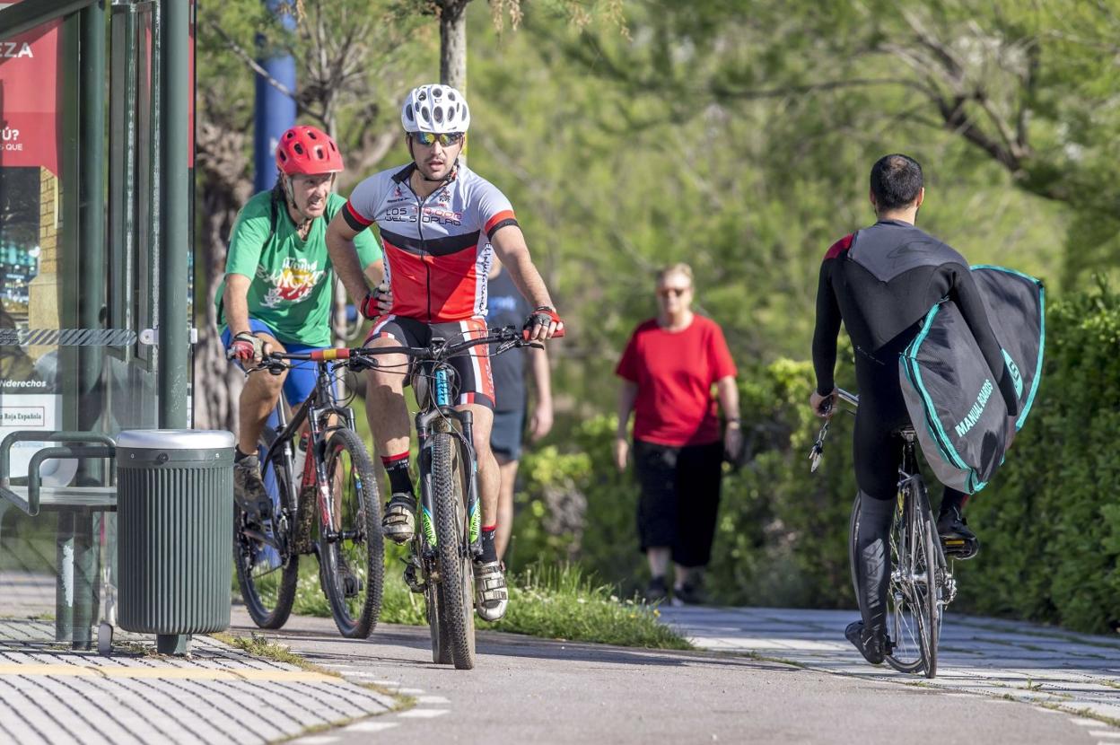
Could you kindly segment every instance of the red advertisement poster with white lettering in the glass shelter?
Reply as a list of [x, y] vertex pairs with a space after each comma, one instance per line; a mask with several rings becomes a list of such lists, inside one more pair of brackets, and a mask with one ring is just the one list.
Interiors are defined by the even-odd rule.
[[58, 175], [58, 25], [0, 39], [0, 167]]

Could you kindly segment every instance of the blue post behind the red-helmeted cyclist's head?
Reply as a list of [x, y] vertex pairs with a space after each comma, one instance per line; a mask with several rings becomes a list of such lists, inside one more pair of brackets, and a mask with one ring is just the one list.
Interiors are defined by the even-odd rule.
[[[290, 0], [265, 0], [265, 7], [289, 31], [296, 29], [296, 9]], [[289, 91], [296, 90], [296, 59], [291, 55], [268, 52], [268, 39], [256, 36], [264, 57], [260, 60], [268, 74]], [[256, 75], [256, 112], [253, 127], [253, 186], [258, 192], [272, 188], [276, 181], [273, 151], [283, 131], [296, 123], [296, 101], [277, 90], [263, 75]]]

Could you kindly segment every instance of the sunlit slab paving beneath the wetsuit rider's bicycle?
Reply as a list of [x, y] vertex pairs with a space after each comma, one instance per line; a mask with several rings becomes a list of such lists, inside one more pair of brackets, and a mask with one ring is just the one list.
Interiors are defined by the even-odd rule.
[[[665, 607], [663, 622], [700, 649], [754, 653], [812, 670], [1011, 698], [1120, 723], [1120, 636], [946, 614], [937, 677], [872, 667], [843, 637], [857, 611]], [[1085, 725], [1090, 726], [1090, 725]], [[1109, 737], [1120, 743], [1120, 729]]]

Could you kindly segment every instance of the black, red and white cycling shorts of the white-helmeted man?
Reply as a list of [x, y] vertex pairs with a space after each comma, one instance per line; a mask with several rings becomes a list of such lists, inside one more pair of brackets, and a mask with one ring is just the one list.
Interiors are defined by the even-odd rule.
[[[456, 342], [478, 338], [485, 334], [486, 322], [482, 318], [426, 324], [403, 316], [382, 316], [365, 337], [365, 343], [370, 344], [375, 338], [391, 338], [400, 342], [402, 346], [428, 346], [433, 336]], [[455, 404], [477, 403], [493, 409], [494, 375], [489, 366], [489, 346], [486, 344], [473, 346], [461, 355], [448, 360], [448, 363], [458, 376], [458, 384], [452, 391]]]

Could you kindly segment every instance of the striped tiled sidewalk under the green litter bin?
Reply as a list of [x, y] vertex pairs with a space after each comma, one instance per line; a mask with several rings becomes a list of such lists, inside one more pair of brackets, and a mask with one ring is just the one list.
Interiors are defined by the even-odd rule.
[[108, 656], [75, 652], [50, 622], [0, 620], [0, 742], [264, 743], [394, 705], [208, 636], [187, 658], [153, 649], [155, 637], [129, 636]]

